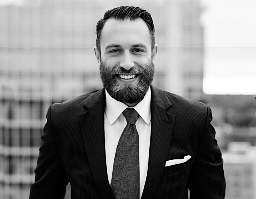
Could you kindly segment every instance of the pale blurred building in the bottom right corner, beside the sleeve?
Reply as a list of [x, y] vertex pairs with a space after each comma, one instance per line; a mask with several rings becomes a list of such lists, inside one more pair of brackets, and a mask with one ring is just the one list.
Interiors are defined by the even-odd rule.
[[230, 142], [222, 154], [226, 199], [256, 199], [256, 147], [249, 142]]

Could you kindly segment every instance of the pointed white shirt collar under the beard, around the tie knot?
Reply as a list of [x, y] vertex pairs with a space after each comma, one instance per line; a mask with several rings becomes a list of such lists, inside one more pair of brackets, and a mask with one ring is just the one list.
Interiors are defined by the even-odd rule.
[[[106, 93], [105, 113], [109, 121], [109, 124], [112, 125], [128, 106], [122, 102], [115, 100], [113, 97], [111, 97], [108, 94], [107, 91], [105, 93]], [[151, 102], [151, 90], [149, 87], [143, 100], [133, 107], [148, 125], [150, 124], [150, 120], [151, 120], [150, 102]]]

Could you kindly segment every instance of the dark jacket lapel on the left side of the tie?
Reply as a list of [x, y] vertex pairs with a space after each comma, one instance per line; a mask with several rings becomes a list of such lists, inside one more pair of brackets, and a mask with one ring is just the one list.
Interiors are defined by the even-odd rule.
[[87, 111], [79, 116], [79, 121], [92, 175], [103, 198], [114, 198], [106, 170], [104, 89], [93, 93], [84, 106]]

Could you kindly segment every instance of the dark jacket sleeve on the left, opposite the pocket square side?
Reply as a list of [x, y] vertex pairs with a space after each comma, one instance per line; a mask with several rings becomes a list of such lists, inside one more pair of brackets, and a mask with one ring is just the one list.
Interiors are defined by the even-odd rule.
[[68, 179], [62, 167], [51, 124], [51, 106], [41, 136], [41, 147], [35, 169], [35, 182], [30, 187], [30, 199], [64, 198]]

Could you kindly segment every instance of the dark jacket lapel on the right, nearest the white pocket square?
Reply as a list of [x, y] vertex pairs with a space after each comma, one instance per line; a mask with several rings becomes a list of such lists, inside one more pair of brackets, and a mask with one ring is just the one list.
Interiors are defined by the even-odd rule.
[[172, 103], [163, 91], [151, 86], [151, 137], [148, 171], [143, 198], [152, 198], [162, 178], [165, 161], [170, 148], [175, 115], [167, 112]]

